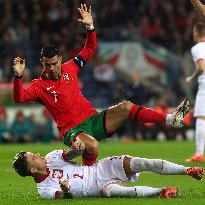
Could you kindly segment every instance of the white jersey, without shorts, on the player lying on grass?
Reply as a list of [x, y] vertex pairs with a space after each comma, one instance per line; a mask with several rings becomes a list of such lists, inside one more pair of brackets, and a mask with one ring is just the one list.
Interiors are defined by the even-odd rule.
[[97, 196], [96, 166], [82, 166], [63, 159], [63, 150], [55, 150], [45, 156], [48, 175], [35, 180], [38, 192], [43, 198], [55, 198], [61, 191], [59, 180], [68, 180], [71, 193], [75, 197]]

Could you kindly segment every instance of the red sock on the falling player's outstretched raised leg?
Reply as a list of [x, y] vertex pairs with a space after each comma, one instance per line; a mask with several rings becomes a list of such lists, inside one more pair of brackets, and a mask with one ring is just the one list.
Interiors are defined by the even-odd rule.
[[137, 122], [149, 122], [149, 123], [166, 123], [165, 114], [158, 113], [146, 107], [140, 107], [139, 105], [133, 105], [129, 117]]

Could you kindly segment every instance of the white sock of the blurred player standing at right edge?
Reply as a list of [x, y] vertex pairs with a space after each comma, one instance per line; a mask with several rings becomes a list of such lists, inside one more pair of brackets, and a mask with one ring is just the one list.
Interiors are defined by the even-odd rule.
[[196, 120], [196, 155], [204, 155], [204, 143], [205, 143], [205, 120]]

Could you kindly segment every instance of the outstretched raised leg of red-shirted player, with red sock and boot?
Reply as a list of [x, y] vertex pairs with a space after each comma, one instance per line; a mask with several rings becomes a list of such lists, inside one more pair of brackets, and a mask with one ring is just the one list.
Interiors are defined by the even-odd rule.
[[173, 127], [182, 127], [185, 115], [189, 111], [189, 101], [184, 100], [172, 114], [165, 115], [147, 107], [141, 107], [129, 101], [124, 101], [108, 108], [106, 112], [106, 132], [115, 132], [120, 125], [131, 118], [136, 122], [164, 123]]

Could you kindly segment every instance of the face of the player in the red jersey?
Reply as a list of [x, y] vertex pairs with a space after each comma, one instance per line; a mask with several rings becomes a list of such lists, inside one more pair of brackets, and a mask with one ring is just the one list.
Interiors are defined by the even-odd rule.
[[59, 79], [61, 76], [61, 56], [54, 56], [52, 58], [43, 57], [41, 62], [48, 76], [52, 79]]

